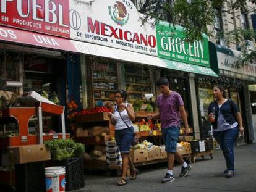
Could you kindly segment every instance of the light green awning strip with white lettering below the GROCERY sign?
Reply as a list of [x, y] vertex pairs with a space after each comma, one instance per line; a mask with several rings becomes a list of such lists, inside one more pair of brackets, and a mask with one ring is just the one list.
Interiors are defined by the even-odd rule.
[[161, 58], [159, 59], [163, 61], [164, 64], [166, 64], [166, 68], [168, 69], [181, 70], [188, 73], [197, 73], [201, 75], [210, 75], [210, 76], [218, 77], [218, 75], [210, 67], [186, 64], [183, 62], [177, 62], [177, 61], [168, 60], [168, 59], [161, 59]]

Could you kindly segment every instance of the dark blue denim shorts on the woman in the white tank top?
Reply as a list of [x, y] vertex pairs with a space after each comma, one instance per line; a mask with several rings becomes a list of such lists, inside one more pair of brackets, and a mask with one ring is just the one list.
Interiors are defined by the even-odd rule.
[[130, 146], [134, 141], [134, 127], [116, 130], [114, 137], [121, 153], [129, 153]]

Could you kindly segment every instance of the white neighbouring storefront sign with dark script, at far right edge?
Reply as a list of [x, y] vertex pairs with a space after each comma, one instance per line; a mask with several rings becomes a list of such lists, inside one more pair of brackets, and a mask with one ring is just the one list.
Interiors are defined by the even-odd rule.
[[245, 64], [244, 66], [237, 64], [238, 58], [223, 54], [217, 51], [218, 67], [224, 75], [248, 80], [256, 80], [256, 63]]

